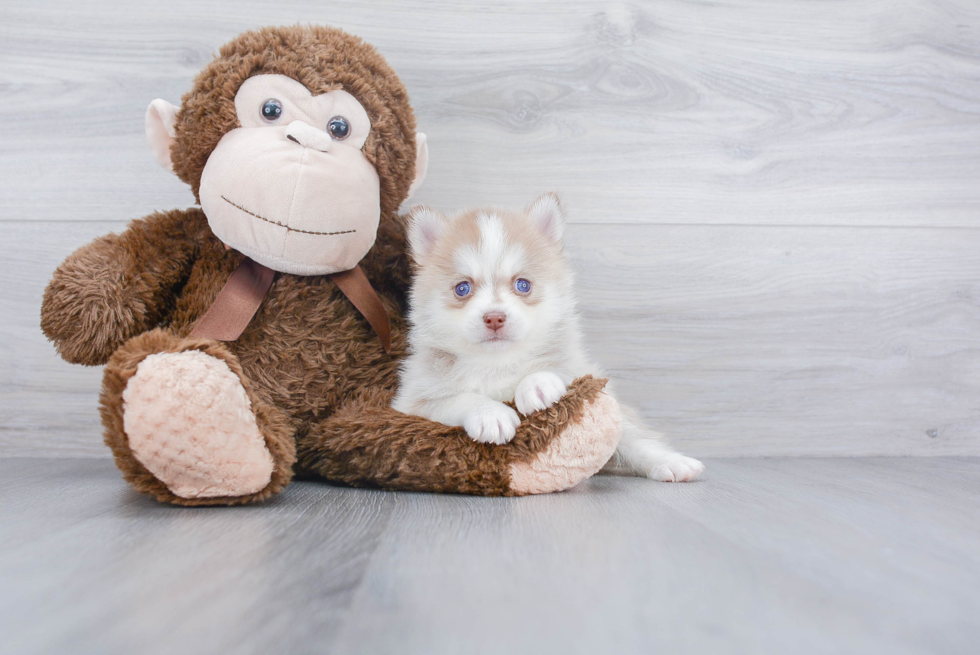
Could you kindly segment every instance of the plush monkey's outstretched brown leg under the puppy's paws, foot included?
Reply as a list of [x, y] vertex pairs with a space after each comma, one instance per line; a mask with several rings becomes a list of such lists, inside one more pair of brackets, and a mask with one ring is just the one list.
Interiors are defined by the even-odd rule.
[[385, 489], [521, 496], [567, 489], [602, 468], [619, 442], [619, 406], [604, 380], [576, 380], [555, 405], [525, 417], [507, 444], [389, 407], [371, 390], [297, 436], [302, 470]]

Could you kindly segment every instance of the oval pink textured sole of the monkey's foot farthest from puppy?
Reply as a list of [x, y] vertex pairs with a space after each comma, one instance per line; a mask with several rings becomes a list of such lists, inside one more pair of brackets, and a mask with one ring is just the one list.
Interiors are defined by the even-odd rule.
[[174, 495], [245, 496], [269, 485], [272, 455], [221, 359], [199, 350], [149, 355], [122, 396], [133, 455]]

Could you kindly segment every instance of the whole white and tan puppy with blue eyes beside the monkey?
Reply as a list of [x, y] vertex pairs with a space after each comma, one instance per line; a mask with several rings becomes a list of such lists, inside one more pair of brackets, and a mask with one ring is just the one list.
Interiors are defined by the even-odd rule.
[[[564, 227], [552, 193], [520, 212], [476, 209], [450, 218], [412, 209], [408, 240], [418, 268], [396, 410], [502, 444], [520, 424], [504, 401], [527, 415], [557, 402], [575, 378], [601, 376], [582, 345]], [[603, 470], [665, 482], [704, 470], [635, 411], [622, 411], [623, 434]]]

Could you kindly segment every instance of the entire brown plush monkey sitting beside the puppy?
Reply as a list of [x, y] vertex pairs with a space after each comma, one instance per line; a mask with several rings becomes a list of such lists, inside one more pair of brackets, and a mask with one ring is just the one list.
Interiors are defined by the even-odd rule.
[[150, 105], [147, 137], [201, 208], [80, 248], [41, 310], [62, 357], [107, 364], [105, 440], [137, 490], [249, 503], [298, 473], [520, 495], [611, 456], [619, 411], [591, 378], [503, 446], [389, 408], [409, 284], [397, 211], [426, 149], [373, 47], [326, 27], [245, 33], [179, 109]]

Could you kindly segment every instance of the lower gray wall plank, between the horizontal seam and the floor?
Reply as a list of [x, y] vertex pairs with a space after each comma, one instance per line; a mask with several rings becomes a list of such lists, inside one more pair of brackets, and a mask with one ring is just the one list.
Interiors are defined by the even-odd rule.
[[[50, 271], [121, 223], [8, 224], [0, 453], [108, 456], [100, 371], [38, 330]], [[980, 231], [574, 225], [587, 343], [695, 456], [980, 455]]]

